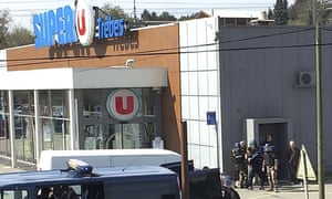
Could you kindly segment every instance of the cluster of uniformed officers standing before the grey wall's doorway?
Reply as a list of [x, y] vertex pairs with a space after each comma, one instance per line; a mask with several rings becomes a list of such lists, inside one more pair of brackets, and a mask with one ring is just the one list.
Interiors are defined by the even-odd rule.
[[266, 142], [258, 146], [256, 140], [246, 144], [245, 140], [235, 144], [232, 149], [235, 159], [235, 180], [239, 188], [253, 189], [255, 177], [259, 178], [259, 189], [269, 184], [269, 191], [278, 191], [277, 171], [279, 160], [274, 153], [272, 137], [268, 135]]

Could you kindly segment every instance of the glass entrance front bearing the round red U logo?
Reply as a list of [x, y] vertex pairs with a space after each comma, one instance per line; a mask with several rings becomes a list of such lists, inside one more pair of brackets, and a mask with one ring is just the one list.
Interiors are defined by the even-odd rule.
[[[156, 101], [160, 96], [153, 88], [82, 92], [83, 115], [80, 132], [83, 132], [81, 140], [84, 144], [81, 148], [149, 148], [152, 140], [160, 136], [156, 128], [160, 119], [157, 113], [159, 108], [156, 107], [159, 104]], [[113, 95], [116, 95], [115, 100], [112, 100]], [[110, 105], [112, 102], [116, 105]], [[115, 113], [110, 113], [112, 111]], [[132, 111], [137, 112], [131, 115]]]

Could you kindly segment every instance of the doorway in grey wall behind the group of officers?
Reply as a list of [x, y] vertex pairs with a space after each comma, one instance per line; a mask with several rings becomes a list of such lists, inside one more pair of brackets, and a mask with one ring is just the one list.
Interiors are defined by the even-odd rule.
[[257, 140], [262, 147], [266, 137], [270, 135], [274, 145], [274, 151], [279, 159], [278, 179], [289, 179], [287, 167], [287, 147], [291, 137], [291, 125], [287, 118], [247, 118], [247, 139]]

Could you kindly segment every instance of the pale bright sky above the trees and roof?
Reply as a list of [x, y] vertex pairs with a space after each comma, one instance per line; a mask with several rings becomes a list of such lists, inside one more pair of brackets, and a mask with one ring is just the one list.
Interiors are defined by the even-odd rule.
[[[89, 0], [87, 0], [89, 1]], [[90, 0], [92, 6], [103, 7], [105, 3], [121, 7], [127, 14], [141, 17], [144, 9], [160, 13], [167, 11], [175, 17], [190, 15], [200, 10], [227, 11], [267, 11], [273, 9], [277, 0]], [[292, 4], [295, 0], [289, 0]], [[0, 0], [0, 10], [9, 10], [12, 19], [11, 28], [23, 27], [32, 30], [32, 15], [46, 10], [55, 10], [66, 4], [73, 6], [74, 0]]]

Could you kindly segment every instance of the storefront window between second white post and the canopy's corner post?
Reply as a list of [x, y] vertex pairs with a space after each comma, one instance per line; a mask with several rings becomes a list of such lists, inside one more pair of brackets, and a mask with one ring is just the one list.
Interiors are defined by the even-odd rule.
[[43, 150], [70, 148], [70, 118], [66, 91], [40, 91]]

